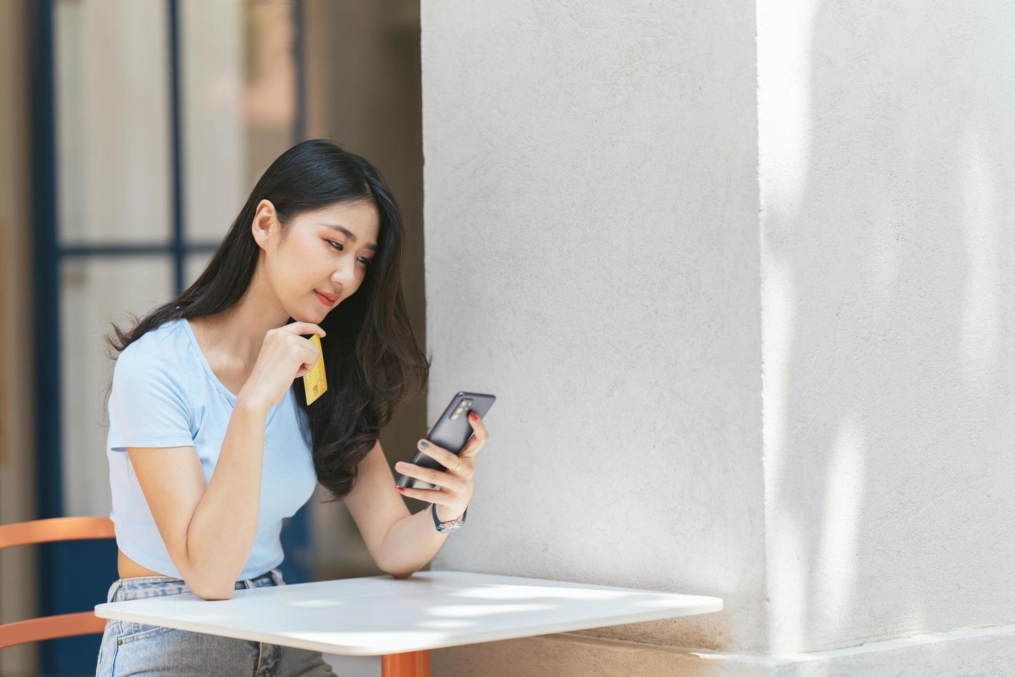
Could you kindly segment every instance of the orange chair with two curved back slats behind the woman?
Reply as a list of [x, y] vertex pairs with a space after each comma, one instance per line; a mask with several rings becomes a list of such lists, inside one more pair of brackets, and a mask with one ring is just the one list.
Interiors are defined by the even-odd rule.
[[[116, 538], [109, 518], [52, 518], [0, 526], [0, 549], [14, 545]], [[104, 600], [105, 601], [105, 600]], [[44, 616], [0, 625], [0, 649], [43, 639], [94, 634], [106, 629], [106, 619], [92, 611]]]

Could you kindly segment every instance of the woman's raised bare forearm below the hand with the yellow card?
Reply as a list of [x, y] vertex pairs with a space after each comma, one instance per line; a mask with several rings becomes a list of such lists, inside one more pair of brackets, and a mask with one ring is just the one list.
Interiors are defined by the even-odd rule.
[[191, 576], [205, 599], [231, 596], [254, 547], [267, 417], [263, 404], [236, 400], [215, 470], [187, 529]]

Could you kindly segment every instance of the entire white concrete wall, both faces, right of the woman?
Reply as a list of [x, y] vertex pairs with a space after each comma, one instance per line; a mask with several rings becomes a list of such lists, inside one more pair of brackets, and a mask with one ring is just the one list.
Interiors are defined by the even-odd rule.
[[433, 566], [726, 601], [435, 670], [1005, 674], [1013, 19], [423, 2], [429, 418], [499, 398]]

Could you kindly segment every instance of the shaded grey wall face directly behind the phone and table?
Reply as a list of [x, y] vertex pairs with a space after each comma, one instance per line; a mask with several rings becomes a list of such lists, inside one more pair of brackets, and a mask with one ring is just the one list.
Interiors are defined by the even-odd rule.
[[722, 597], [763, 641], [753, 10], [422, 3], [429, 416], [490, 392], [434, 568]]

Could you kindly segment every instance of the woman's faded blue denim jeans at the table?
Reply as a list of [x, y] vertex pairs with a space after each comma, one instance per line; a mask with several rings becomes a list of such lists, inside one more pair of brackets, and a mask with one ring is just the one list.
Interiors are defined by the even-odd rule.
[[[257, 578], [238, 581], [235, 590], [284, 585], [282, 572], [273, 568]], [[186, 583], [166, 576], [117, 579], [110, 587], [106, 601], [189, 592], [191, 589]], [[337, 677], [321, 652], [113, 619], [106, 621], [95, 675]]]

